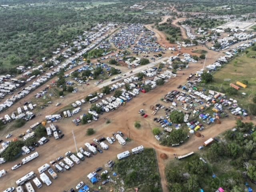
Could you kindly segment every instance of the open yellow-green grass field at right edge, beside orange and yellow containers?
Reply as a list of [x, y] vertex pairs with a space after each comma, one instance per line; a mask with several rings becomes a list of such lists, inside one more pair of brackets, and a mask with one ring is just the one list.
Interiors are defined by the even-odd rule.
[[[249, 103], [252, 103], [252, 97], [256, 95], [256, 51], [248, 49], [248, 53], [245, 52], [237, 55], [232, 61], [221, 67], [213, 73], [214, 82], [206, 85], [206, 88], [220, 91], [225, 93], [226, 89], [230, 86], [230, 83], [236, 83], [236, 81], [247, 80], [247, 88], [240, 88], [238, 95], [232, 95], [232, 98], [238, 99], [238, 104], [242, 107], [247, 107]], [[224, 81], [224, 80], [230, 81]], [[246, 95], [242, 95], [246, 93]]]

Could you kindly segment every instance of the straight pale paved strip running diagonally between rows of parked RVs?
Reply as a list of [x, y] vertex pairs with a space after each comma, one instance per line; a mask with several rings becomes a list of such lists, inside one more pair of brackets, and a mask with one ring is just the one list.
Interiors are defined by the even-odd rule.
[[[100, 85], [98, 85], [98, 87], [99, 88], [102, 88], [102, 87], [104, 87], [104, 86], [108, 86], [108, 85], [111, 85], [112, 83], [116, 83], [117, 81], [120, 81], [120, 80], [122, 80], [122, 79], [125, 79], [125, 78], [127, 78], [127, 77], [130, 77], [130, 76], [132, 76], [132, 75], [135, 75], [136, 73], [139, 73], [140, 71], [143, 71], [143, 70], [145, 70], [145, 69], [148, 69], [148, 68], [150, 68], [150, 67], [154, 67], [155, 65], [157, 65], [158, 63], [161, 63], [162, 61], [166, 61], [167, 59], [169, 59], [169, 57], [163, 57], [162, 59], [159, 59], [159, 60], [157, 60], [157, 61], [154, 61], [154, 62], [152, 62], [152, 63], [149, 63], [148, 65], [143, 65], [143, 66], [140, 66], [140, 67], [138, 67], [138, 68], [135, 68], [135, 69], [132, 69], [132, 73], [130, 73], [130, 72], [126, 72], [126, 73], [123, 73], [122, 74], [122, 77], [120, 78], [120, 79], [116, 79], [115, 81], [106, 81], [105, 83], [101, 83]], [[126, 76], [124, 76], [124, 74], [126, 75]], [[116, 75], [116, 76], [118, 76], [118, 75]], [[114, 78], [114, 77], [113, 77]], [[113, 79], [112, 78], [112, 79]]]

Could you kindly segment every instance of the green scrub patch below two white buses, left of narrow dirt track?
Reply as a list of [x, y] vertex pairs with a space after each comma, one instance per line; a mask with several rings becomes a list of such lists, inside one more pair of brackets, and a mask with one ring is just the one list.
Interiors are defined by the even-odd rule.
[[127, 188], [140, 187], [140, 192], [162, 192], [153, 149], [115, 162], [114, 171], [124, 180]]

